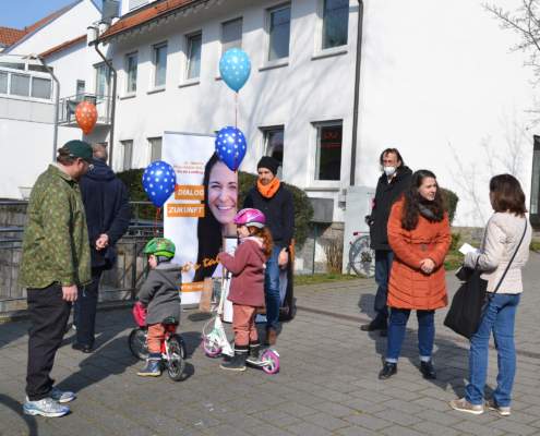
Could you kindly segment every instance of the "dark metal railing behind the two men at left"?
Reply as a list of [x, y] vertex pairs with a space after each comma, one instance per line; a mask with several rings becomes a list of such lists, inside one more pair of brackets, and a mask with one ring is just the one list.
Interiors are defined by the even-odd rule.
[[[27, 205], [28, 202], [0, 202], [0, 206]], [[135, 206], [135, 218], [128, 233], [116, 243], [117, 264], [104, 271], [99, 282], [100, 301], [135, 299], [136, 292], [148, 272], [143, 250], [154, 238], [156, 225], [139, 219], [139, 206], [151, 202], [130, 202]], [[158, 221], [159, 235], [163, 235], [163, 222]], [[24, 228], [0, 228], [0, 312], [26, 308], [26, 290], [20, 282], [20, 262], [22, 233]], [[8, 238], [3, 238], [4, 234]], [[20, 234], [19, 238], [14, 235]]]

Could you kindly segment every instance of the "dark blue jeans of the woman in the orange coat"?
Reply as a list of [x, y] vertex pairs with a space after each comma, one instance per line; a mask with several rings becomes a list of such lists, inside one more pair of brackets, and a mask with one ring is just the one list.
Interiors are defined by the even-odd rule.
[[[388, 326], [388, 346], [386, 362], [397, 363], [405, 340], [405, 326], [409, 320], [410, 308], [391, 307]], [[418, 318], [418, 351], [420, 360], [431, 361], [433, 343], [435, 341], [435, 311], [417, 311]]]

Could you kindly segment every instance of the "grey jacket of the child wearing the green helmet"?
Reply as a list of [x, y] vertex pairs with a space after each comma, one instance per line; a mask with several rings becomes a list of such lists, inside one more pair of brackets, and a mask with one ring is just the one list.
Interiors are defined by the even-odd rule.
[[148, 306], [146, 324], [159, 324], [166, 318], [180, 319], [182, 267], [177, 264], [158, 265], [148, 274], [139, 300]]

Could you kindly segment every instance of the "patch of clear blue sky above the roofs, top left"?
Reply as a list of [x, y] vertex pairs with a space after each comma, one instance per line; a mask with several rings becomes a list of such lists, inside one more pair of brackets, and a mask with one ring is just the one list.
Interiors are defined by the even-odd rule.
[[[23, 29], [75, 0], [0, 0], [0, 27]], [[94, 0], [101, 9], [103, 0]]]

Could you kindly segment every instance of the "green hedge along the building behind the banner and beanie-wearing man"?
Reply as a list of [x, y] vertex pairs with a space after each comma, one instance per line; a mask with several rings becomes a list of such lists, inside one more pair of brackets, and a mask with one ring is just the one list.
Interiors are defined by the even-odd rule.
[[[134, 170], [120, 171], [117, 177], [125, 184], [128, 191], [128, 198], [131, 202], [148, 202], [149, 198], [144, 192], [142, 178], [144, 168], [137, 168]], [[244, 171], [238, 173], [238, 204], [242, 205], [248, 194], [248, 191], [255, 186], [257, 175]], [[313, 207], [311, 202], [300, 187], [291, 184], [284, 183], [295, 198], [296, 220], [295, 220], [295, 244], [296, 250], [300, 250], [309, 235], [309, 223], [313, 217]], [[131, 215], [135, 216], [135, 206], [131, 206]], [[154, 205], [139, 206], [140, 219], [156, 219], [156, 208]], [[159, 219], [164, 219], [164, 213], [161, 210]]]

